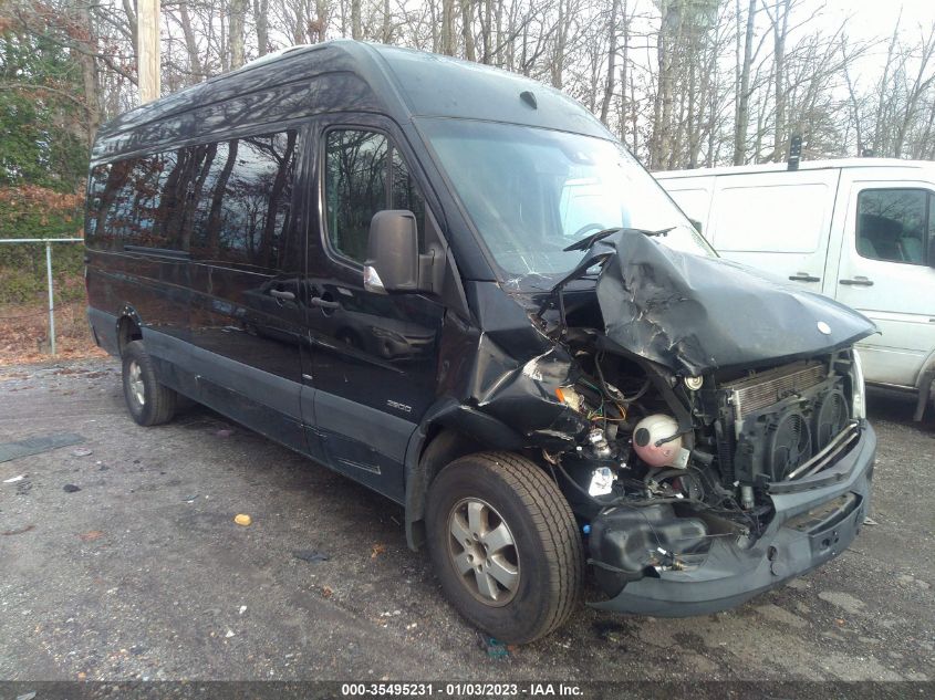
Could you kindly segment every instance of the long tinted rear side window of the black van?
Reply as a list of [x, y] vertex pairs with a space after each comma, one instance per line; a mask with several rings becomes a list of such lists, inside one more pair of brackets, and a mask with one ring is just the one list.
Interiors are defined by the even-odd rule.
[[89, 240], [270, 269], [287, 258], [298, 261], [291, 216], [295, 140], [297, 132], [289, 130], [97, 166]]

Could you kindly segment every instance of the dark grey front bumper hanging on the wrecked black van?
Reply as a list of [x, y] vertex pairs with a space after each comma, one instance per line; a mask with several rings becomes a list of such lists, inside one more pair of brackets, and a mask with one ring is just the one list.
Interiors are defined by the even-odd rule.
[[[730, 608], [834, 558], [870, 512], [876, 435], [864, 424], [856, 445], [833, 467], [770, 489], [776, 513], [748, 548], [715, 537], [698, 566], [664, 570], [626, 583], [592, 607], [656, 617], [688, 617]], [[600, 516], [599, 516], [600, 518]]]

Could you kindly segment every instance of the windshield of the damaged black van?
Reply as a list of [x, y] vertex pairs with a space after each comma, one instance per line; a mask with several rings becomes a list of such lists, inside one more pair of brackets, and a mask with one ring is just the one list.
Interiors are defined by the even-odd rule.
[[438, 118], [418, 123], [505, 274], [567, 273], [582, 251], [564, 248], [614, 227], [672, 229], [657, 240], [684, 252], [715, 254], [619, 144], [512, 124]]

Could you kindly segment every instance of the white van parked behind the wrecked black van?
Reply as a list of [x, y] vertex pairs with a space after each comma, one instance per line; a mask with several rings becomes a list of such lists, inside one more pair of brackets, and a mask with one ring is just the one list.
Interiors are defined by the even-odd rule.
[[935, 163], [884, 158], [654, 173], [717, 251], [872, 318], [869, 384], [935, 399]]

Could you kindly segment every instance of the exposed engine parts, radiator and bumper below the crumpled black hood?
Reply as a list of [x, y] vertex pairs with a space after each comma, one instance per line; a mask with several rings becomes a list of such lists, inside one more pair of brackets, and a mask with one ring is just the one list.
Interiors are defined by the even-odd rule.
[[[562, 460], [609, 609], [682, 616], [737, 605], [840, 554], [870, 505], [875, 437], [849, 349], [759, 372], [676, 378], [633, 401], [606, 468]], [[673, 411], [674, 412], [674, 411]], [[686, 424], [690, 421], [690, 427]], [[687, 429], [686, 429], [687, 428]], [[678, 437], [671, 439], [672, 436]], [[673, 445], [671, 457], [659, 456]], [[584, 498], [588, 491], [590, 499]]]

